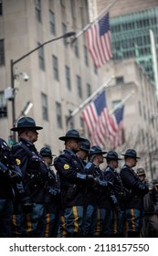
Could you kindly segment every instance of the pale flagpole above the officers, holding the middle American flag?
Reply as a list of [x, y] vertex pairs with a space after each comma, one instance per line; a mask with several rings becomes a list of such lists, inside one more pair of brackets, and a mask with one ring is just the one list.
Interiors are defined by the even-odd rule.
[[93, 98], [94, 98], [101, 90], [103, 90], [104, 88], [108, 87], [109, 84], [110, 84], [110, 82], [111, 82], [111, 80], [113, 80], [113, 79], [114, 79], [114, 76], [111, 76], [110, 79], [108, 79], [108, 80], [106, 80], [104, 83], [102, 83], [102, 84], [100, 85], [100, 87], [90, 95], [89, 98], [87, 98], [85, 101], [83, 101], [83, 102], [79, 105], [79, 107], [78, 107], [76, 110], [74, 110], [73, 112], [71, 112], [71, 113], [69, 114], [68, 118], [67, 118], [67, 125], [68, 125], [69, 120], [70, 120], [74, 115], [76, 115], [79, 111], [81, 111], [90, 101], [92, 101]]

